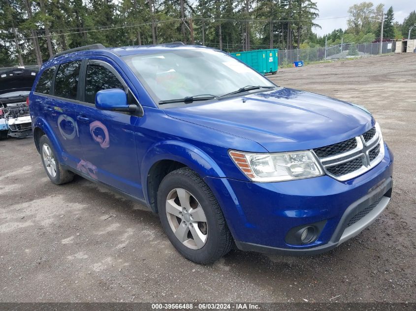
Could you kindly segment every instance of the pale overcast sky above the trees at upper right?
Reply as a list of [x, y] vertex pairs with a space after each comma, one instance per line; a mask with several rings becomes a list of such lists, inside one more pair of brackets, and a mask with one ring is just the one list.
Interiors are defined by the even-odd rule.
[[[320, 28], [314, 28], [314, 31], [320, 36], [332, 32], [337, 28], [347, 28], [348, 17], [327, 19], [333, 17], [348, 16], [348, 8], [361, 0], [315, 0], [318, 3], [319, 18], [315, 21]], [[376, 6], [378, 1], [373, 2]], [[393, 6], [394, 21], [402, 23], [410, 12], [416, 10], [415, 0], [384, 0], [384, 13], [390, 6]]]

